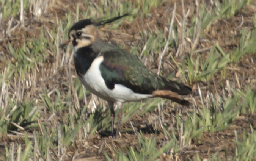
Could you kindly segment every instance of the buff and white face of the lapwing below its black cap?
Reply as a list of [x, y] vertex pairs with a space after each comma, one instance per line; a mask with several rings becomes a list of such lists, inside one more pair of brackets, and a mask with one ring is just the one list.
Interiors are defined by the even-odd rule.
[[91, 45], [99, 34], [97, 28], [94, 25], [88, 25], [81, 30], [72, 30], [69, 33], [70, 41], [75, 48], [86, 47]]

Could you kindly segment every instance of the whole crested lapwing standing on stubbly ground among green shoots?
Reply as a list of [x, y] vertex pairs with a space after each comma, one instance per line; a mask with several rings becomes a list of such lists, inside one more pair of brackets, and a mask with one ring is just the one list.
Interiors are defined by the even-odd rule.
[[[82, 84], [93, 94], [106, 100], [112, 117], [112, 136], [118, 138], [123, 102], [161, 97], [189, 105], [179, 95], [192, 89], [153, 73], [137, 56], [103, 41], [97, 26], [113, 22], [123, 16], [108, 20], [84, 19], [69, 30], [69, 41], [74, 46], [74, 65]], [[114, 135], [114, 104], [118, 105], [118, 124]]]

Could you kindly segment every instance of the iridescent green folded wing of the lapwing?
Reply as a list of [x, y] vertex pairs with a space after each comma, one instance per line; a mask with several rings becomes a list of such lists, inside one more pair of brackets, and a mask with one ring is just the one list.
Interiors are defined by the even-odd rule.
[[135, 55], [122, 49], [112, 49], [102, 53], [101, 75], [109, 89], [122, 84], [135, 93], [152, 94], [157, 89], [171, 90], [177, 94], [188, 94], [191, 89], [156, 75]]

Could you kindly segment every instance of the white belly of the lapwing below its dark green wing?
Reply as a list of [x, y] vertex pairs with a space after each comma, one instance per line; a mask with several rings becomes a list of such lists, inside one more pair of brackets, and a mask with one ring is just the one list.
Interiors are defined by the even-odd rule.
[[107, 101], [138, 101], [146, 98], [151, 98], [150, 94], [134, 93], [131, 89], [121, 85], [115, 84], [114, 89], [107, 88], [104, 79], [101, 76], [99, 66], [103, 61], [103, 56], [94, 59], [90, 68], [83, 77], [79, 77], [82, 84], [93, 94]]

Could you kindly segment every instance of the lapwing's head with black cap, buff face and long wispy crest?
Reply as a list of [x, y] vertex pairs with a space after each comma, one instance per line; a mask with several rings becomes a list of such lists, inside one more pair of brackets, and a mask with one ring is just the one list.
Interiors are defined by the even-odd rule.
[[69, 42], [75, 48], [87, 47], [93, 44], [97, 39], [100, 39], [97, 26], [101, 26], [115, 20], [118, 20], [128, 14], [123, 16], [113, 17], [111, 19], [84, 19], [75, 23], [69, 30]]

